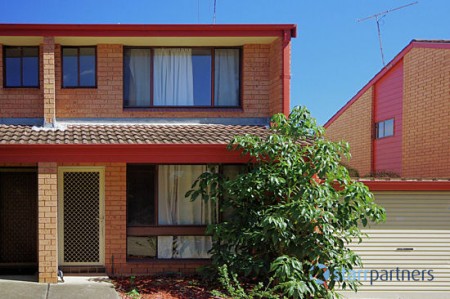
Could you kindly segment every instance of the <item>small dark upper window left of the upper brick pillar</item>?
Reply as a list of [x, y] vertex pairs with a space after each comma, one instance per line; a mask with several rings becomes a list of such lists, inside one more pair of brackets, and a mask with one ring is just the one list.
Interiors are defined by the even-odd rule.
[[39, 47], [4, 47], [4, 87], [39, 87]]

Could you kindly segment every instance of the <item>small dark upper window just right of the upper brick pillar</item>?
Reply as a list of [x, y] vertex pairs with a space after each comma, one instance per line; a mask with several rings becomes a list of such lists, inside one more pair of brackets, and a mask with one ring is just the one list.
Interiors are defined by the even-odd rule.
[[62, 74], [62, 87], [96, 87], [95, 47], [63, 47]]

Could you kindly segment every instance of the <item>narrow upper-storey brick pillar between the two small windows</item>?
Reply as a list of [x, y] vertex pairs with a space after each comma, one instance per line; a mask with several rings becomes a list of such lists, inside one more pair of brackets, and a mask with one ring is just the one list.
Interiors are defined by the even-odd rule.
[[55, 125], [55, 39], [44, 37], [43, 45], [44, 126]]

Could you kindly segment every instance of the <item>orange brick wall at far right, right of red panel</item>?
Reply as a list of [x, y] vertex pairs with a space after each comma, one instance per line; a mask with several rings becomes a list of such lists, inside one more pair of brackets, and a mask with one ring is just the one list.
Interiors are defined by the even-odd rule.
[[404, 57], [403, 176], [450, 177], [450, 49]]

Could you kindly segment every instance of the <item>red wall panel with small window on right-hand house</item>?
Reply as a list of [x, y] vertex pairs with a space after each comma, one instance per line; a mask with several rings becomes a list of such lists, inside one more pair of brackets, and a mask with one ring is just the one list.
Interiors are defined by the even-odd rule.
[[374, 170], [402, 175], [403, 60], [375, 85], [375, 123], [394, 118], [394, 136], [375, 139]]

